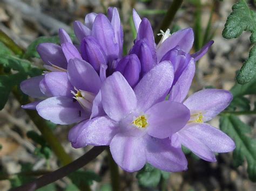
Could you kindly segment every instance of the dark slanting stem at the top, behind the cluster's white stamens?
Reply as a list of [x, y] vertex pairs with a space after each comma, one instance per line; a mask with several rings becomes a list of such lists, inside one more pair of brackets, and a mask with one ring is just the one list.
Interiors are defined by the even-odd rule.
[[[183, 0], [173, 0], [170, 8], [167, 10], [166, 15], [163, 19], [163, 22], [161, 23], [157, 33], [159, 33], [160, 30], [166, 31], [168, 27], [171, 25], [174, 16], [176, 15], [177, 11], [179, 10]], [[156, 43], [158, 43], [161, 39], [160, 36], [157, 36], [157, 34], [154, 36], [156, 39]]]

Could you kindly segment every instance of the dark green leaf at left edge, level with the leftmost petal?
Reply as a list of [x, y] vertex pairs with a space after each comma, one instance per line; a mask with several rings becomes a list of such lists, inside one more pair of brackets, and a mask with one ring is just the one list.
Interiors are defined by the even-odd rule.
[[4, 108], [12, 88], [26, 79], [24, 73], [0, 75], [0, 110]]

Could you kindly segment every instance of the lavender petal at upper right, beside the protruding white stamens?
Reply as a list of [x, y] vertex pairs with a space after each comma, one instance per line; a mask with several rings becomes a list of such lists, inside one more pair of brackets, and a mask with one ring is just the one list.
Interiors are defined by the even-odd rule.
[[174, 32], [159, 46], [159, 48], [157, 48], [157, 60], [161, 60], [168, 51], [176, 46], [179, 46], [180, 49], [189, 53], [193, 43], [194, 33], [191, 28]]

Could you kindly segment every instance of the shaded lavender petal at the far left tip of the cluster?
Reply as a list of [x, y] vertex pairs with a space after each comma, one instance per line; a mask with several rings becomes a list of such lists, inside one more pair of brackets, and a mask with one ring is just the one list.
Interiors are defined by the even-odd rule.
[[44, 94], [39, 88], [39, 83], [44, 79], [44, 75], [30, 77], [28, 80], [21, 82], [21, 90], [24, 94], [30, 97], [44, 97]]

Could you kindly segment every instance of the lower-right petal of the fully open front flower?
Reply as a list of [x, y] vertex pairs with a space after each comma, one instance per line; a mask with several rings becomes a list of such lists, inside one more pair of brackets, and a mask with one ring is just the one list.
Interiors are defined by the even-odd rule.
[[169, 138], [147, 136], [147, 162], [162, 171], [179, 172], [187, 169], [187, 160], [181, 148], [172, 147]]

